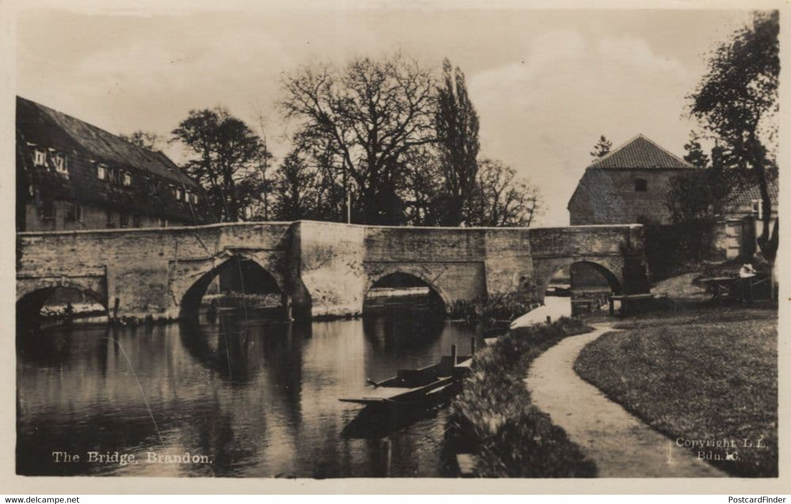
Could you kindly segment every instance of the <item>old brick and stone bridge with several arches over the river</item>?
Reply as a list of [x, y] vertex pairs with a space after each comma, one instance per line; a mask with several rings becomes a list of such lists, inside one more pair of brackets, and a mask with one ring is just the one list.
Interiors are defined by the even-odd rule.
[[[642, 226], [391, 228], [298, 221], [17, 235], [17, 310], [40, 309], [53, 288], [76, 288], [119, 317], [175, 318], [195, 310], [232, 258], [255, 261], [297, 317], [359, 314], [380, 278], [407, 273], [445, 304], [524, 291], [585, 262], [613, 291], [647, 291]], [[276, 287], [275, 285], [276, 284]]]

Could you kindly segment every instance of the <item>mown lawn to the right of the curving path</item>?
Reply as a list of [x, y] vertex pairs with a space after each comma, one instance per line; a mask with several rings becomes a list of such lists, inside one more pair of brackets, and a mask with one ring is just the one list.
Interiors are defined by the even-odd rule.
[[777, 322], [755, 308], [646, 314], [585, 347], [574, 370], [674, 442], [732, 440], [692, 449], [718, 468], [777, 476]]

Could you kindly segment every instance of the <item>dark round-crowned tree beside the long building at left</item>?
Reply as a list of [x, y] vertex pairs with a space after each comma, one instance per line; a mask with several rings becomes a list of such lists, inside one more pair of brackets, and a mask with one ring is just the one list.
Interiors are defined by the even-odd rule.
[[192, 110], [172, 131], [193, 157], [184, 170], [197, 180], [209, 197], [220, 221], [251, 216], [251, 205], [264, 189], [259, 167], [270, 154], [261, 138], [223, 107]]

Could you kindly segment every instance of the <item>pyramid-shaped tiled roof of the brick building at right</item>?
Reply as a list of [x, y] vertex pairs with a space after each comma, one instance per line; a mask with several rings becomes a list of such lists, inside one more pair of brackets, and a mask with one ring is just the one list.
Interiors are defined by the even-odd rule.
[[645, 135], [638, 134], [606, 156], [593, 161], [589, 168], [679, 170], [695, 167]]

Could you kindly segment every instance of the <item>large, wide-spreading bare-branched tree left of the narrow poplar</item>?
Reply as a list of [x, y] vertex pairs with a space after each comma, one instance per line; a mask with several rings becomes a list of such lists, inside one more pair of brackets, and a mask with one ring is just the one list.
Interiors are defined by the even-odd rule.
[[283, 89], [279, 107], [298, 122], [294, 145], [320, 153], [355, 194], [357, 221], [402, 224], [404, 156], [435, 141], [431, 72], [399, 54], [357, 58], [341, 70], [304, 68], [286, 76]]

